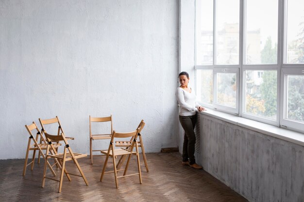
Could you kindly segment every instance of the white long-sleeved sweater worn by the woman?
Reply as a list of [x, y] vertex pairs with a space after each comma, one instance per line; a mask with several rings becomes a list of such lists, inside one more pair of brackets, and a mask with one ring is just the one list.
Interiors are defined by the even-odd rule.
[[180, 116], [192, 116], [196, 114], [198, 111], [197, 107], [200, 105], [196, 101], [196, 95], [193, 89], [191, 89], [191, 93], [188, 93], [181, 87], [178, 87], [175, 95], [180, 104]]

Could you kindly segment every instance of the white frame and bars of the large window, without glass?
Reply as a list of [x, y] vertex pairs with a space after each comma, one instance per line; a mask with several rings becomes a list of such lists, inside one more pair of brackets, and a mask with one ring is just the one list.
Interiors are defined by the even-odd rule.
[[[304, 63], [286, 63], [287, 51], [287, 0], [278, 0], [278, 41], [277, 41], [277, 63], [276, 64], [246, 64], [245, 51], [246, 47], [246, 2], [247, 0], [239, 0], [239, 64], [238, 65], [217, 65], [216, 64], [216, 46], [217, 46], [217, 31], [216, 31], [216, 15], [217, 15], [217, 0], [213, 0], [213, 62], [212, 65], [197, 65], [196, 53], [196, 31], [195, 31], [195, 72], [199, 69], [212, 69], [213, 70], [213, 90], [214, 100], [212, 105], [201, 103], [204, 107], [211, 107], [226, 113], [238, 115], [254, 121], [259, 121], [266, 124], [276, 125], [279, 127], [295, 130], [304, 133], [304, 124], [285, 119], [286, 115], [286, 78], [287, 75], [304, 75]], [[197, 18], [197, 0], [195, 1], [195, 18]], [[195, 27], [197, 24], [195, 23]], [[221, 69], [229, 71], [236, 71], [236, 109], [231, 107], [223, 107], [216, 104], [216, 74]], [[260, 117], [252, 114], [245, 113], [245, 96], [246, 96], [246, 70], [276, 70], [277, 71], [277, 117], [276, 120]], [[197, 83], [196, 83], [197, 84]], [[239, 85], [242, 84], [242, 85]], [[285, 106], [285, 107], [284, 107]]]

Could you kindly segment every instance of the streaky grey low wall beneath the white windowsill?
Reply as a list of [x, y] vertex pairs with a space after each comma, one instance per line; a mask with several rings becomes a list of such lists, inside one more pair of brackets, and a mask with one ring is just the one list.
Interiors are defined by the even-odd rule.
[[201, 116], [203, 169], [250, 202], [304, 201], [304, 147]]

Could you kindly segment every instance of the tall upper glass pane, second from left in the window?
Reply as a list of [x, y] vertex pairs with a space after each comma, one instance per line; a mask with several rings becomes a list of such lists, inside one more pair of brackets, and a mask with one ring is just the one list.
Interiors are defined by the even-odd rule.
[[239, 0], [217, 0], [216, 29], [216, 63], [238, 64]]

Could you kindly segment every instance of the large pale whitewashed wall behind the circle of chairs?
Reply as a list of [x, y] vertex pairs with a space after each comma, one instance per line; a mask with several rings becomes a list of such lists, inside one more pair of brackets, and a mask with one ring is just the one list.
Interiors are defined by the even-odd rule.
[[77, 152], [89, 152], [89, 115], [113, 114], [121, 132], [144, 119], [147, 152], [176, 147], [178, 8], [177, 0], [0, 0], [0, 159], [24, 158], [24, 125], [56, 115]]

